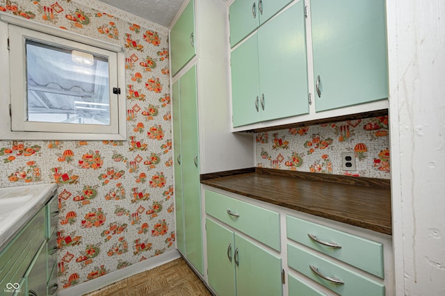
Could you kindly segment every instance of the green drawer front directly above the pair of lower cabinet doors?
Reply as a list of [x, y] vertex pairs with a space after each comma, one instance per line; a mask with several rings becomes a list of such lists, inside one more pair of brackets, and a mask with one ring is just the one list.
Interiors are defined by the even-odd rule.
[[207, 214], [280, 252], [279, 213], [209, 190], [205, 195]]

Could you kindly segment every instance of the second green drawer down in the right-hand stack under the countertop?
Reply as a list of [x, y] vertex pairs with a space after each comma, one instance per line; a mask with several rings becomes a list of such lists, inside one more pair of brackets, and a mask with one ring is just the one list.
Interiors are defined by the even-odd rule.
[[[385, 295], [385, 286], [382, 283], [373, 281], [362, 274], [289, 243], [287, 244], [287, 263], [294, 270], [305, 274], [305, 276], [343, 296]], [[326, 277], [339, 279], [343, 284], [323, 279], [310, 266], [317, 268], [318, 272], [321, 272]]]

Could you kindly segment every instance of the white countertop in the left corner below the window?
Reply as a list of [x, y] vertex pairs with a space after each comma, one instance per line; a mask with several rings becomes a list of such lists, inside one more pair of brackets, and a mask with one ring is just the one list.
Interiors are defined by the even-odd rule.
[[56, 184], [0, 188], [0, 252], [56, 189]]

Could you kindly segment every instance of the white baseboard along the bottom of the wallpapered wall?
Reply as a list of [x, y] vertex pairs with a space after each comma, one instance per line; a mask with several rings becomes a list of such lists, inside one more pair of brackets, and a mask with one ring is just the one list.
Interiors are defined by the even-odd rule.
[[132, 275], [138, 274], [140, 272], [145, 272], [145, 270], [151, 270], [152, 268], [156, 268], [180, 257], [181, 254], [178, 252], [177, 249], [174, 249], [164, 254], [148, 258], [147, 260], [134, 263], [127, 268], [122, 268], [122, 270], [116, 270], [114, 272], [105, 274], [102, 277], [98, 277], [97, 279], [92, 279], [91, 281], [79, 283], [79, 285], [76, 285], [74, 287], [60, 290], [58, 291], [57, 295], [79, 296], [90, 293], [92, 291], [99, 290], [100, 288], [104, 288], [105, 286], [111, 285], [111, 283], [115, 283], [116, 281], [131, 277]]

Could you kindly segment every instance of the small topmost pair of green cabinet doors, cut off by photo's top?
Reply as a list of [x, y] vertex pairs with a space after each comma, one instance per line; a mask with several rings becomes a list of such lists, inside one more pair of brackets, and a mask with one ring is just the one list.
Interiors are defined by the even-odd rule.
[[291, 0], [235, 0], [229, 8], [230, 45], [234, 47]]

